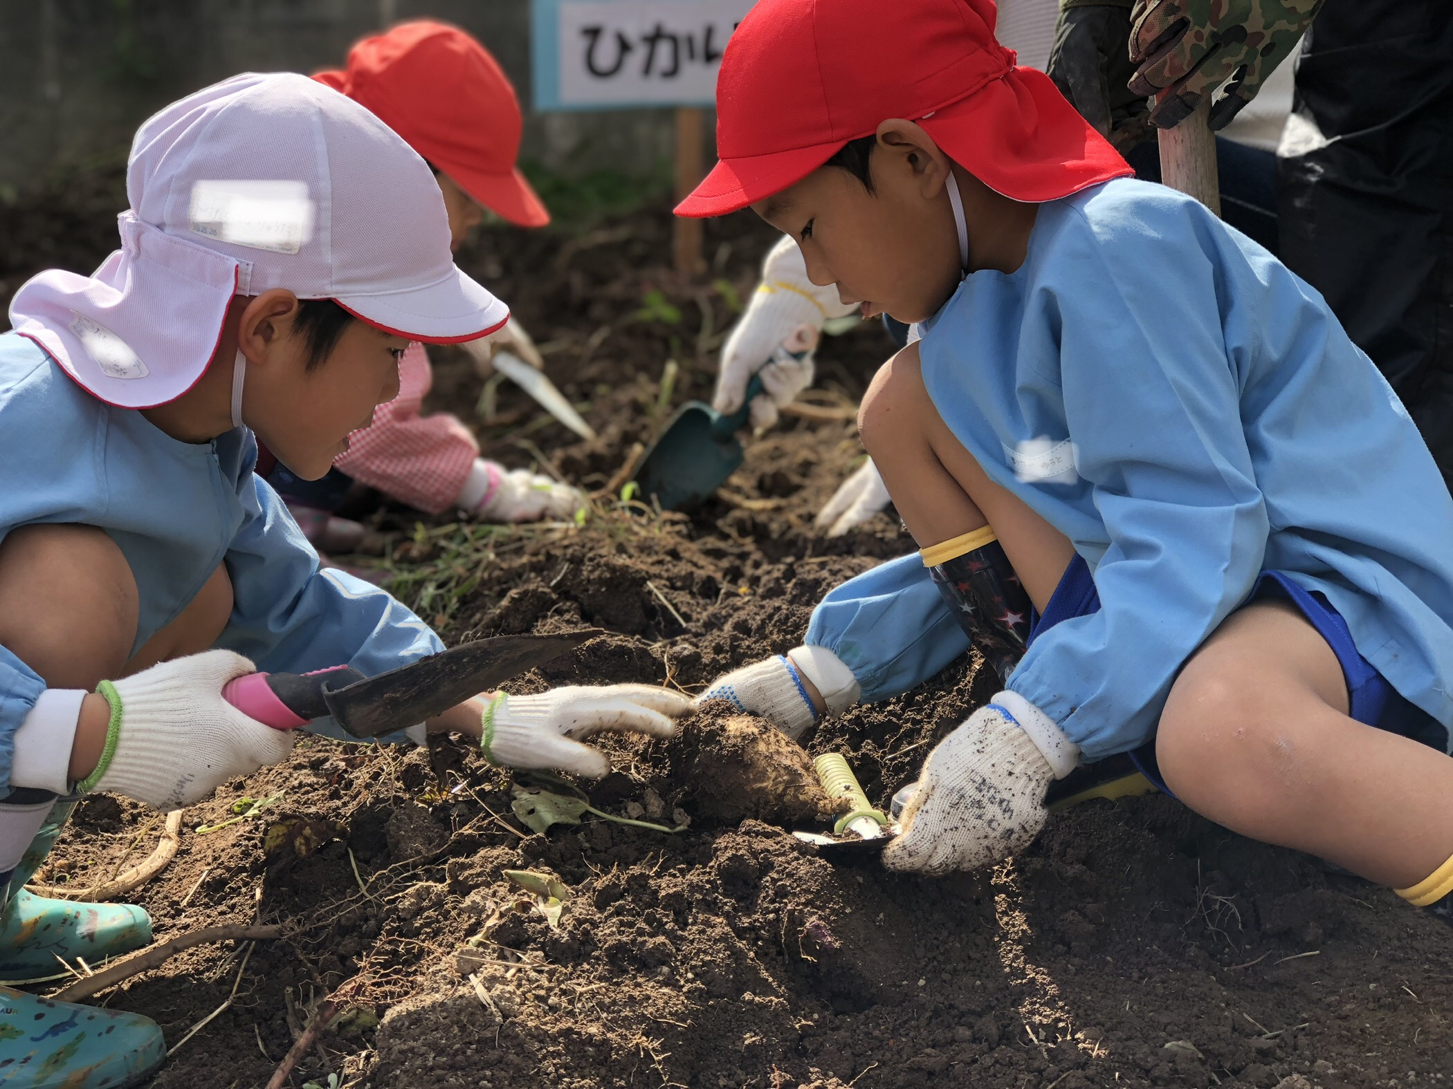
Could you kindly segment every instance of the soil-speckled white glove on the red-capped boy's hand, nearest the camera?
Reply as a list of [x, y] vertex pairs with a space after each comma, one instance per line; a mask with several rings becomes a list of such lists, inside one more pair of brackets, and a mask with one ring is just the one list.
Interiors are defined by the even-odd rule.
[[991, 865], [1045, 826], [1045, 791], [1080, 761], [1080, 746], [1042, 710], [1000, 693], [928, 754], [889, 870], [944, 874]]

